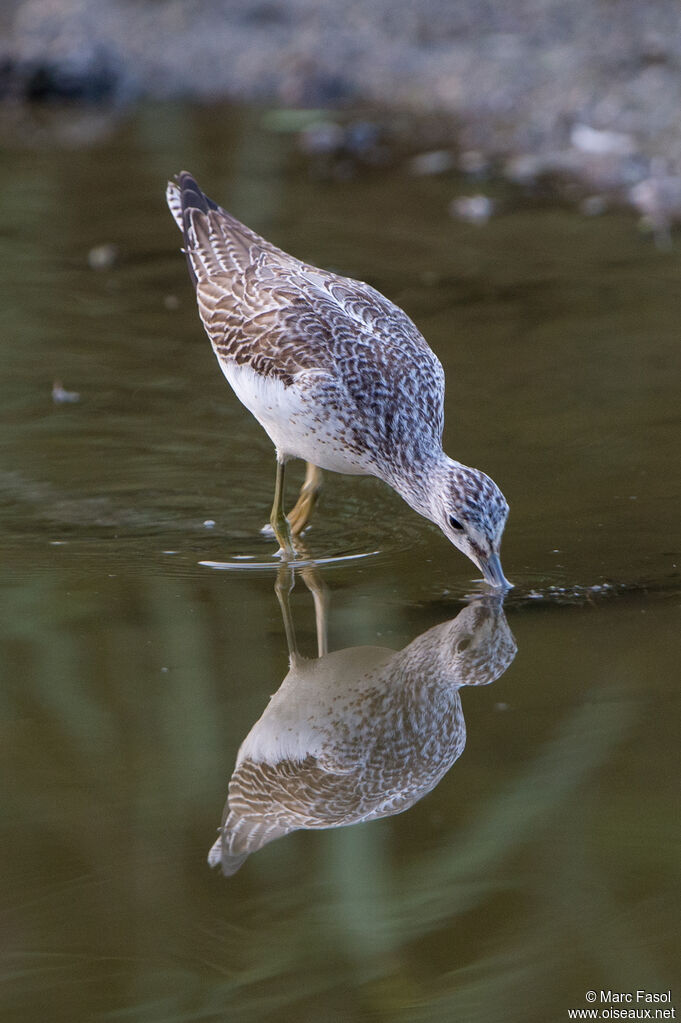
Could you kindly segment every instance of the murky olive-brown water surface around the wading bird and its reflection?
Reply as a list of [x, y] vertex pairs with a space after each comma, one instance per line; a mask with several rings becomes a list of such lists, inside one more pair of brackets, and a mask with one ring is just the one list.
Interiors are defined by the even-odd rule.
[[[678, 993], [678, 247], [485, 184], [498, 215], [462, 224], [480, 182], [329, 179], [262, 112], [152, 107], [86, 146], [63, 123], [0, 164], [3, 1015], [546, 1023], [589, 988]], [[273, 453], [198, 323], [182, 167], [410, 313], [447, 450], [511, 505], [517, 655], [461, 690], [451, 769], [228, 879], [207, 855], [288, 653]], [[306, 542], [332, 651], [403, 650], [484, 592], [376, 481], [327, 478]], [[314, 658], [300, 576], [291, 615]]]

